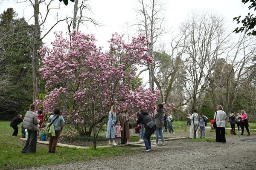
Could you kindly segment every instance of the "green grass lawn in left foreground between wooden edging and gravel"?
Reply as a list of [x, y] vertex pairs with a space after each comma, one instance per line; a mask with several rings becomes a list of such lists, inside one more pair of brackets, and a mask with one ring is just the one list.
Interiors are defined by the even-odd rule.
[[21, 136], [21, 124], [18, 127], [18, 137], [11, 137], [13, 129], [10, 127], [10, 121], [0, 121], [0, 169], [91, 161], [103, 159], [106, 156], [121, 156], [141, 152], [141, 150], [131, 150], [132, 147], [111, 147], [97, 150], [57, 147], [56, 154], [49, 154], [48, 145], [37, 144], [35, 154], [24, 154], [21, 153], [21, 150], [25, 142], [19, 139]]

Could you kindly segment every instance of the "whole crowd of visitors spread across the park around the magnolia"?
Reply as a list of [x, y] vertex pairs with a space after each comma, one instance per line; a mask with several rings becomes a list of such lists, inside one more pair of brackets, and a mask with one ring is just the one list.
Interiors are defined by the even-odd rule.
[[[10, 126], [14, 129], [12, 136], [15, 137], [18, 133], [17, 125], [23, 122], [22, 133], [24, 137], [24, 133], [26, 132], [27, 140], [22, 150], [22, 153], [36, 152], [37, 136], [39, 133], [39, 129], [42, 127], [44, 122], [43, 112], [40, 110], [36, 111], [36, 109], [36, 106], [34, 104], [31, 104], [29, 107], [29, 111], [27, 111], [26, 115], [24, 116], [24, 119], [22, 119], [22, 115], [18, 114], [18, 116], [15, 117], [10, 123]], [[116, 119], [117, 116], [118, 119]], [[237, 125], [238, 131], [241, 128], [241, 135], [244, 134], [244, 127], [247, 130], [247, 135], [250, 135], [247, 117], [248, 116], [244, 110], [241, 110], [241, 113], [237, 113], [237, 116], [235, 116], [234, 113], [231, 113], [229, 117], [231, 132], [236, 134], [235, 125]], [[227, 114], [223, 111], [223, 107], [221, 105], [218, 105], [217, 111], [214, 114], [214, 119], [211, 121], [211, 127], [212, 129], [215, 129], [216, 133], [216, 142], [226, 142], [226, 118]], [[158, 104], [157, 108], [154, 108], [153, 117], [151, 117], [145, 109], [139, 108], [139, 111], [137, 112], [135, 131], [136, 133], [139, 133], [139, 141], [143, 141], [145, 143], [145, 149], [143, 151], [151, 151], [150, 137], [153, 133], [155, 133], [156, 136], [156, 142], [154, 143], [154, 145], [165, 145], [163, 132], [167, 132], [168, 125], [169, 134], [175, 133], [172, 127], [173, 120], [174, 119], [172, 114], [165, 113], [165, 111], [163, 110], [162, 103]], [[122, 107], [119, 114], [117, 114], [116, 106], [111, 106], [111, 110], [108, 113], [108, 125], [106, 132], [106, 138], [109, 139], [109, 145], [117, 146], [118, 144], [127, 144], [128, 139], [130, 138], [132, 128], [130, 121], [130, 116], [126, 107]], [[188, 114], [187, 126], [190, 126], [189, 138], [198, 138], [198, 130], [200, 131], [200, 138], [205, 138], [207, 121], [207, 116], [205, 116], [203, 113], [200, 113], [198, 115], [198, 112], [196, 110], [194, 110], [192, 114]], [[46, 135], [46, 138], [50, 138], [48, 152], [55, 153], [57, 142], [65, 122], [63, 116], [61, 116], [61, 111], [56, 108], [54, 110], [54, 113], [49, 116], [47, 122], [48, 123], [45, 127], [44, 135]], [[160, 142], [159, 136], [161, 140]]]

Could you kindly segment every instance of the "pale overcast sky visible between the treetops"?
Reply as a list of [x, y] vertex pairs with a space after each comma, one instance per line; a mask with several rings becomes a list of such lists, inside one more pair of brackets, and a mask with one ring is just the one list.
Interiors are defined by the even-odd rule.
[[[2, 1], [2, 0], [0, 0]], [[137, 14], [134, 9], [139, 8], [138, 0], [91, 0], [90, 4], [93, 9], [92, 14], [88, 16], [93, 17], [104, 26], [94, 27], [89, 25], [88, 27], [81, 27], [79, 30], [86, 34], [95, 34], [98, 40], [97, 45], [108, 48], [108, 40], [111, 38], [111, 34], [117, 32], [119, 34], [127, 34], [130, 32], [130, 36], [133, 36], [134, 29], [127, 28], [125, 23], [135, 23]], [[145, 0], [146, 1], [146, 0]], [[181, 22], [185, 21], [189, 12], [192, 10], [197, 11], [209, 11], [222, 15], [226, 19], [226, 24], [229, 27], [229, 31], [232, 31], [237, 25], [233, 21], [233, 17], [241, 15], [244, 17], [248, 13], [248, 4], [244, 5], [241, 0], [161, 0], [165, 4], [166, 11], [163, 13], [165, 18], [165, 27], [175, 31], [178, 29]], [[53, 2], [56, 7], [60, 6], [60, 10], [53, 10], [50, 13], [48, 22], [45, 24], [45, 28], [49, 28], [55, 21], [56, 13], [58, 12], [59, 19], [66, 16], [72, 16], [73, 3], [69, 2], [68, 6], [64, 6], [63, 3], [59, 4], [58, 0]], [[29, 3], [16, 3], [16, 0], [4, 0], [0, 3], [0, 13], [3, 13], [7, 8], [14, 8], [19, 14], [19, 17], [25, 17], [28, 21], [32, 14], [32, 6], [28, 6]], [[40, 10], [42, 11], [42, 8]], [[33, 18], [29, 23], [33, 24]], [[56, 26], [53, 31], [67, 32], [67, 24], [62, 22]], [[45, 37], [43, 40], [46, 44], [50, 44], [54, 40], [53, 31]], [[42, 33], [44, 34], [44, 32]], [[170, 44], [171, 31], [161, 37], [161, 42], [166, 46]], [[146, 76], [143, 74], [142, 76]]]

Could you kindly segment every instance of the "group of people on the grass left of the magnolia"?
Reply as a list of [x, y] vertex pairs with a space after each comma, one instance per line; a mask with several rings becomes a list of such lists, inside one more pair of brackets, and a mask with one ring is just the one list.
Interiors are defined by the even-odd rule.
[[[39, 129], [42, 127], [44, 122], [44, 114], [42, 111], [36, 111], [37, 108], [35, 104], [31, 104], [29, 106], [29, 111], [26, 112], [24, 119], [22, 119], [22, 115], [18, 114], [17, 117], [12, 119], [10, 126], [14, 129], [14, 133], [12, 137], [16, 137], [18, 133], [18, 127], [21, 122], [22, 124], [22, 137], [27, 138], [25, 146], [23, 147], [22, 153], [35, 153], [36, 152], [36, 144], [37, 144], [37, 136], [39, 135]], [[64, 127], [64, 118], [61, 116], [61, 111], [59, 109], [55, 109], [54, 113], [49, 116], [47, 121], [47, 127], [51, 135], [49, 135], [49, 153], [55, 153], [57, 142], [61, 131]], [[51, 126], [52, 125], [52, 126]], [[48, 131], [48, 132], [49, 132]], [[43, 133], [42, 136], [43, 137]], [[47, 136], [48, 137], [48, 136]]]

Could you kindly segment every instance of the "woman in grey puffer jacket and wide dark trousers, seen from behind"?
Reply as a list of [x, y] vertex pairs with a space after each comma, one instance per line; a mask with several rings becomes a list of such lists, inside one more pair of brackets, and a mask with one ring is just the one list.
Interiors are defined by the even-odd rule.
[[37, 132], [39, 130], [38, 124], [40, 120], [38, 119], [38, 114], [35, 112], [35, 109], [35, 104], [31, 104], [29, 111], [26, 112], [23, 119], [23, 127], [28, 130], [28, 139], [21, 151], [22, 153], [35, 153], [36, 151]]

